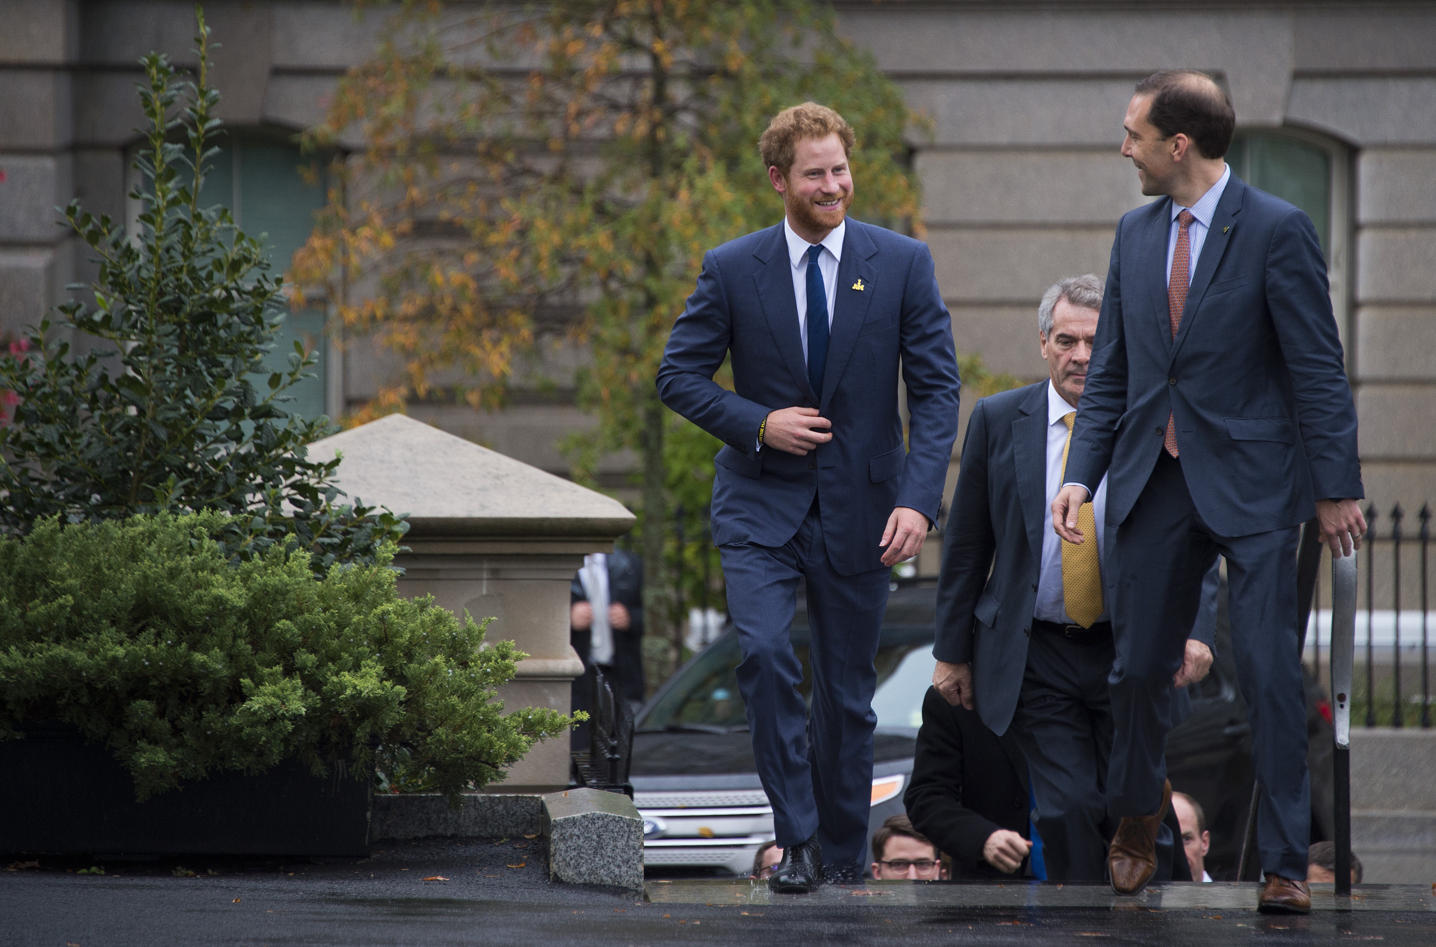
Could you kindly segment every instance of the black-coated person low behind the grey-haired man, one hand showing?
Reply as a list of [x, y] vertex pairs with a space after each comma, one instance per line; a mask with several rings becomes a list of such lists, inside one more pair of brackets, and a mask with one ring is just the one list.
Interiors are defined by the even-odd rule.
[[[1030, 799], [1027, 759], [1012, 730], [998, 736], [975, 712], [949, 705], [929, 687], [903, 806], [913, 828], [952, 858], [954, 878], [1002, 878], [1021, 871], [1045, 880], [1045, 865], [1028, 862]], [[1167, 825], [1173, 838], [1180, 838], [1176, 814], [1169, 814]], [[1186, 858], [1175, 852], [1172, 845], [1157, 848], [1157, 877], [1190, 881]]]

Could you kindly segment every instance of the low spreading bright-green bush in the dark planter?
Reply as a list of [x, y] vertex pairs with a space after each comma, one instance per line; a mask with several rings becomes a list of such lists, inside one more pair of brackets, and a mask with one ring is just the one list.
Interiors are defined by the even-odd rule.
[[299, 758], [378, 765], [457, 805], [573, 720], [503, 713], [494, 690], [524, 654], [484, 644], [432, 598], [395, 593], [386, 568], [269, 548], [234, 564], [227, 517], [37, 522], [0, 538], [0, 740], [22, 720], [60, 720], [103, 742], [136, 796], [223, 769]]

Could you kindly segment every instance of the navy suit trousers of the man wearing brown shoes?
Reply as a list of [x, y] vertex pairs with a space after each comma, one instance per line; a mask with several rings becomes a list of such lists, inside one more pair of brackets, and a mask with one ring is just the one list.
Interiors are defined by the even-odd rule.
[[1166, 738], [1178, 723], [1172, 676], [1182, 666], [1202, 577], [1222, 555], [1232, 656], [1262, 788], [1256, 835], [1262, 870], [1300, 880], [1307, 877], [1311, 785], [1297, 651], [1298, 531], [1216, 535], [1192, 502], [1182, 462], [1160, 452], [1109, 554], [1117, 656], [1107, 811], [1113, 816], [1156, 811], [1166, 778]]

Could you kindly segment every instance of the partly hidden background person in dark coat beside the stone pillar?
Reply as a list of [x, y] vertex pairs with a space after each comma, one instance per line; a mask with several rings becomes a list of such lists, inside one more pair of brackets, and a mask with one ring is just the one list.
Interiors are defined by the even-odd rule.
[[[583, 660], [583, 677], [573, 682], [573, 709], [593, 710], [595, 666], [615, 697], [643, 703], [643, 560], [623, 550], [586, 555], [573, 574], [569, 600], [569, 641]], [[574, 748], [587, 748], [587, 725], [576, 727], [572, 739]]]

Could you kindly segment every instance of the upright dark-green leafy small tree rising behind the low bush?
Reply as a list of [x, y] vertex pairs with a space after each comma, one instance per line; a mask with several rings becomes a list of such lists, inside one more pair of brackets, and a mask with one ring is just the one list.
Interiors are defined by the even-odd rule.
[[[263, 244], [200, 192], [218, 151], [220, 93], [208, 85], [208, 36], [198, 17], [198, 72], [184, 80], [165, 56], [142, 63], [148, 131], [135, 168], [144, 184], [138, 231], [95, 218], [79, 202], [67, 227], [99, 257], [90, 298], [59, 307], [23, 346], [0, 353], [0, 534], [24, 535], [47, 517], [66, 522], [215, 509], [231, 514], [224, 548], [250, 558], [273, 544], [336, 561], [372, 562], [406, 529], [389, 511], [355, 504], [333, 484], [339, 461], [306, 459], [332, 429], [286, 410], [286, 392], [313, 356], [296, 343], [284, 372], [264, 356], [287, 311], [283, 280]], [[177, 106], [182, 109], [177, 115]], [[181, 136], [182, 141], [171, 141]], [[63, 336], [102, 343], [72, 352]]]

